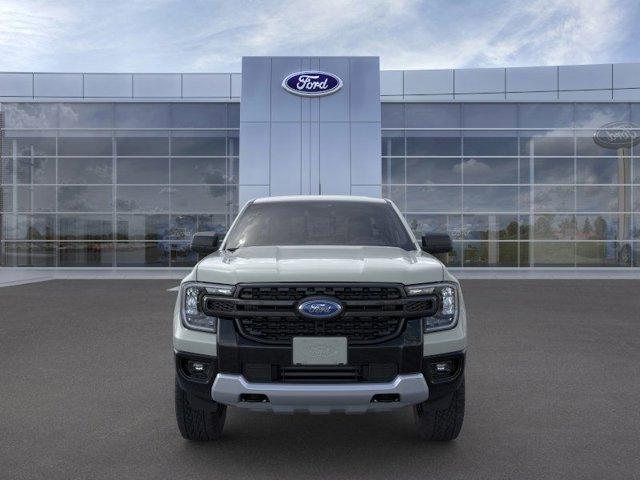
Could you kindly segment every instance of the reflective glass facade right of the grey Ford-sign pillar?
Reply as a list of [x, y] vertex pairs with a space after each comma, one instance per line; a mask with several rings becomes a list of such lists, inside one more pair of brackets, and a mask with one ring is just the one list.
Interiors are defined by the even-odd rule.
[[640, 146], [596, 143], [611, 122], [640, 104], [383, 103], [383, 196], [453, 267], [637, 267]]

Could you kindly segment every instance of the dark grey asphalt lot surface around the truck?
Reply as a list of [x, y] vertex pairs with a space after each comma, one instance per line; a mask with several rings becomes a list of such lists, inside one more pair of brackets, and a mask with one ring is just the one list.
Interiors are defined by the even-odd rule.
[[467, 410], [449, 444], [410, 409], [230, 409], [183, 440], [173, 410], [175, 281], [0, 288], [0, 477], [626, 479], [640, 459], [640, 281], [468, 280]]

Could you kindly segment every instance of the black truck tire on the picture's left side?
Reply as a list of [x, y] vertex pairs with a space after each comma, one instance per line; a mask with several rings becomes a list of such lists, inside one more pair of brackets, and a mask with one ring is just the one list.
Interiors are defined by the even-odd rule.
[[176, 420], [184, 438], [199, 442], [216, 440], [222, 435], [226, 417], [226, 405], [213, 400], [210, 406], [194, 402], [176, 380]]

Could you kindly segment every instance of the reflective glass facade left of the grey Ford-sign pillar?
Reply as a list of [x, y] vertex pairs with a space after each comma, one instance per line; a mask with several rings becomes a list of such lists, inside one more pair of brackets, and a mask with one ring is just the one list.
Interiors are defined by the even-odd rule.
[[238, 211], [237, 103], [3, 103], [0, 265], [184, 267]]

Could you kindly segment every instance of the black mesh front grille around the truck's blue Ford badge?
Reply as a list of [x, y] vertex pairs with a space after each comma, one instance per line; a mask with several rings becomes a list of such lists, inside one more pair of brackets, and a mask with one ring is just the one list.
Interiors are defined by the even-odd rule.
[[[339, 300], [338, 317], [311, 319], [297, 312], [310, 297]], [[406, 318], [430, 316], [438, 309], [434, 295], [410, 297], [394, 284], [266, 284], [238, 285], [233, 298], [205, 296], [204, 312], [233, 318], [240, 335], [275, 344], [290, 344], [294, 337], [340, 336], [350, 344], [370, 344], [398, 336]]]

